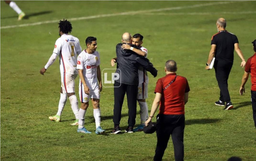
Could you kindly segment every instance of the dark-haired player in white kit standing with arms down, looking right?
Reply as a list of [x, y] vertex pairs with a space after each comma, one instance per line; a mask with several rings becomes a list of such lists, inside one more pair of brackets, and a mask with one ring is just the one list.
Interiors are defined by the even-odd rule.
[[91, 99], [93, 116], [96, 124], [95, 133], [101, 134], [105, 130], [103, 130], [100, 126], [100, 91], [102, 90], [100, 54], [98, 51], [96, 51], [97, 39], [95, 37], [86, 38], [85, 43], [87, 49], [83, 50], [77, 58], [77, 69], [80, 77], [79, 98], [81, 101], [77, 132], [91, 133], [84, 127], [85, 113], [89, 106], [89, 99]]

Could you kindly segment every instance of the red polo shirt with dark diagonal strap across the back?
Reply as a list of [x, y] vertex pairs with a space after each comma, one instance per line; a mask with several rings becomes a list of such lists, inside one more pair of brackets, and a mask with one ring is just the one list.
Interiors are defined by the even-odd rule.
[[164, 90], [175, 76], [176, 73], [167, 74], [156, 82], [155, 93], [162, 94], [160, 114], [185, 114], [184, 94], [190, 91], [187, 79], [177, 75], [175, 81]]

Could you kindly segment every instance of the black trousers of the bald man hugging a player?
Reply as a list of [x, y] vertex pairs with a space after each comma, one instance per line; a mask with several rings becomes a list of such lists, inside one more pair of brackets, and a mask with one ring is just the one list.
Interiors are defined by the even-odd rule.
[[121, 120], [121, 110], [124, 102], [124, 95], [127, 96], [128, 104], [128, 125], [133, 127], [135, 125], [136, 110], [137, 110], [137, 94], [138, 86], [114, 83], [114, 125], [119, 125]]

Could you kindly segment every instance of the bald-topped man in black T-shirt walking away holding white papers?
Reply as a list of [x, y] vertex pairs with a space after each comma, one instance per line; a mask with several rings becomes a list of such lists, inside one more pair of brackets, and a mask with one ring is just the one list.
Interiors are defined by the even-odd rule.
[[225, 29], [226, 20], [224, 18], [219, 18], [216, 22], [216, 26], [218, 33], [214, 34], [211, 38], [211, 50], [205, 69], [210, 70], [211, 60], [213, 57], [215, 57], [214, 69], [220, 88], [220, 98], [219, 101], [215, 102], [215, 105], [225, 106], [226, 102], [224, 110], [230, 110], [233, 108], [233, 105], [231, 103], [228, 91], [228, 76], [233, 65], [234, 49], [242, 60], [242, 67], [245, 66], [246, 61], [243, 57], [242, 51], [239, 48], [236, 35], [228, 32]]

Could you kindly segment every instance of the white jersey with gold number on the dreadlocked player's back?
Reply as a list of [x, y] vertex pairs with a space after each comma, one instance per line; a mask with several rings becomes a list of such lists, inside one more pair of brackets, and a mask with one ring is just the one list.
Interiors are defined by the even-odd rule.
[[59, 55], [60, 73], [77, 74], [77, 52], [81, 51], [78, 38], [63, 34], [55, 42], [53, 52]]

